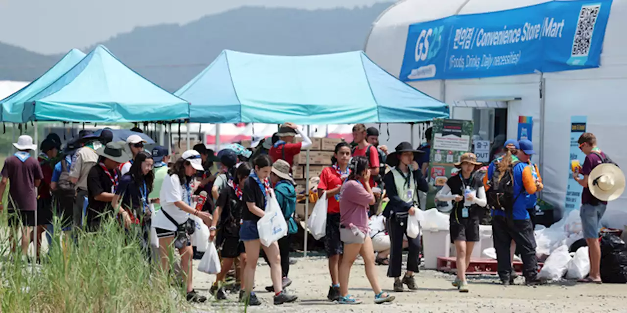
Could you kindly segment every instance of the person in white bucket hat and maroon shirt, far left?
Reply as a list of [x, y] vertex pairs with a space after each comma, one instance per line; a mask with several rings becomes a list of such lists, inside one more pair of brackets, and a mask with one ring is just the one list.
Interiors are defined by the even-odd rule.
[[[31, 155], [31, 150], [36, 150], [37, 146], [33, 144], [33, 138], [28, 135], [19, 136], [18, 142], [13, 143], [18, 150], [14, 155], [4, 160], [2, 169], [2, 180], [0, 181], [0, 199], [4, 196], [6, 185], [11, 182], [9, 188], [9, 227], [17, 231], [22, 227], [22, 253], [27, 255], [28, 244], [30, 242], [29, 233], [31, 227], [40, 225], [37, 220], [37, 193], [35, 188], [39, 187], [43, 179], [40, 164]], [[4, 209], [4, 203], [0, 202], [0, 210]], [[11, 241], [11, 250], [16, 249], [13, 231], [9, 232], [9, 240]], [[38, 230], [41, 233], [41, 230]], [[37, 240], [37, 257], [39, 257], [41, 247], [41, 236]]]

